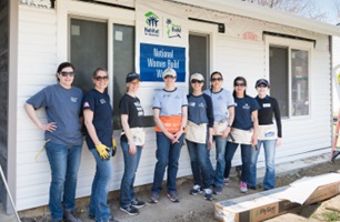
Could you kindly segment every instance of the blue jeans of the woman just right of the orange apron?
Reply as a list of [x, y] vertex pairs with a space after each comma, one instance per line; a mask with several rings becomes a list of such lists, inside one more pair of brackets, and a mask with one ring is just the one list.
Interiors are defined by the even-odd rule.
[[196, 143], [187, 140], [193, 183], [203, 189], [210, 188], [210, 168], [207, 161], [207, 144]]

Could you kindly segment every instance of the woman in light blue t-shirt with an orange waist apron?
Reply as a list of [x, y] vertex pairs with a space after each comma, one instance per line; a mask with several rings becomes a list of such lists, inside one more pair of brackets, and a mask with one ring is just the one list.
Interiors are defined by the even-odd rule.
[[156, 91], [152, 104], [153, 120], [156, 122], [157, 163], [150, 195], [151, 203], [157, 203], [159, 200], [167, 168], [167, 195], [170, 201], [179, 202], [176, 178], [188, 115], [186, 92], [174, 85], [176, 71], [168, 68], [163, 71], [162, 78], [166, 87]]

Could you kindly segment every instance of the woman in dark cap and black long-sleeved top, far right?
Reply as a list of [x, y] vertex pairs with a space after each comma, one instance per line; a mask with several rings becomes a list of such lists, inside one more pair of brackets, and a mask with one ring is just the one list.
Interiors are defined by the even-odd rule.
[[[270, 190], [276, 186], [276, 148], [281, 145], [282, 127], [278, 101], [268, 95], [269, 82], [266, 79], [259, 79], [256, 83], [258, 95], [256, 100], [260, 104], [259, 110], [259, 134], [258, 149], [252, 149], [251, 153], [251, 173], [249, 186], [256, 189], [257, 185], [257, 162], [260, 148], [263, 144], [266, 157], [266, 174], [263, 179], [263, 190]], [[276, 118], [273, 124], [272, 118]]]

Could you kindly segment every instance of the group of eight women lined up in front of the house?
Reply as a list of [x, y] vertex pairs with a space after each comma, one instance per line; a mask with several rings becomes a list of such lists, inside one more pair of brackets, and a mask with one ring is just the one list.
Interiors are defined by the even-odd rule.
[[[92, 74], [94, 88], [87, 92], [72, 87], [74, 67], [69, 62], [57, 69], [58, 83], [49, 85], [27, 100], [24, 108], [33, 123], [44, 131], [46, 151], [51, 169], [49, 209], [52, 221], [80, 222], [74, 213], [77, 174], [82, 148], [82, 121], [86, 141], [96, 160], [89, 216], [98, 222], [117, 221], [107, 203], [109, 183], [112, 180], [111, 157], [114, 155], [112, 107], [107, 93], [109, 74], [98, 68]], [[269, 97], [269, 82], [256, 83], [256, 99], [247, 95], [247, 81], [236, 78], [231, 93], [222, 88], [223, 75], [212, 72], [211, 88], [202, 91], [204, 78], [200, 73], [190, 77], [192, 93], [174, 85], [177, 73], [169, 68], [162, 73], [166, 87], [156, 90], [153, 119], [156, 122], [157, 163], [150, 202], [157, 203], [162, 191], [167, 170], [167, 196], [179, 202], [176, 178], [181, 148], [187, 143], [193, 175], [192, 195], [203, 192], [207, 200], [220, 194], [229, 183], [231, 160], [241, 145], [242, 175], [240, 190], [247, 192], [257, 184], [257, 160], [260, 145], [266, 152], [267, 172], [263, 189], [274, 186], [274, 149], [281, 143], [281, 121], [278, 102]], [[120, 210], [137, 215], [146, 205], [133, 191], [136, 172], [146, 142], [144, 111], [138, 99], [140, 75], [131, 72], [126, 77], [127, 93], [119, 103], [122, 125], [120, 144], [124, 159], [124, 172], [120, 188]], [[47, 123], [42, 123], [36, 110], [46, 108]], [[272, 117], [276, 118], [276, 125]], [[213, 171], [210, 149], [216, 142], [217, 165]]]

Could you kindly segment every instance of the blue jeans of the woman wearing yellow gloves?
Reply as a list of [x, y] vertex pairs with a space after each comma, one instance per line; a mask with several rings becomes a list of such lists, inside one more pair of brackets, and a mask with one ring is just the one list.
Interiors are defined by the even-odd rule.
[[[113, 164], [110, 160], [101, 160], [96, 148], [90, 149], [96, 160], [96, 174], [92, 181], [89, 214], [96, 216], [96, 221], [108, 221], [111, 215], [108, 205], [109, 185], [112, 180]], [[112, 148], [110, 148], [111, 157]]]

